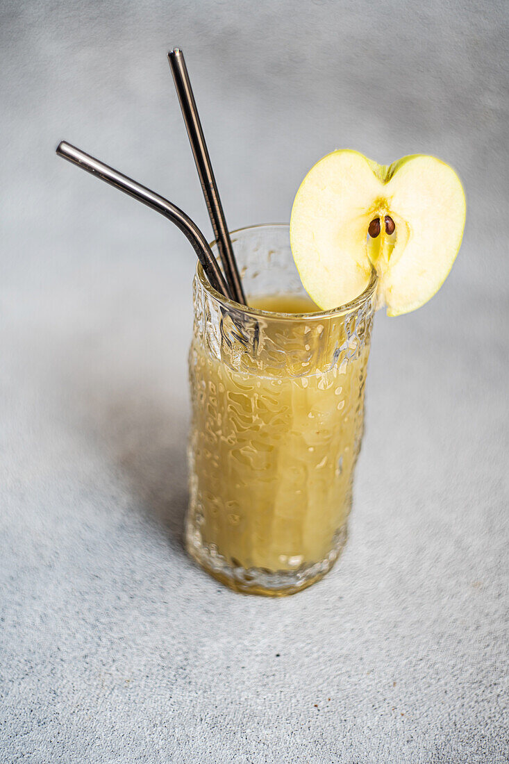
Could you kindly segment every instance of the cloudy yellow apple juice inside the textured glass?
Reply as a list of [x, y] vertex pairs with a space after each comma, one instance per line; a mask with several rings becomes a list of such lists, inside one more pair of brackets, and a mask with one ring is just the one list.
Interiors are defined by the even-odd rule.
[[[300, 296], [249, 304], [317, 310]], [[305, 322], [297, 326], [304, 343]], [[199, 544], [242, 568], [297, 571], [323, 561], [338, 548], [351, 506], [368, 347], [342, 367], [297, 374], [234, 371], [203, 348], [192, 352], [190, 519]]]

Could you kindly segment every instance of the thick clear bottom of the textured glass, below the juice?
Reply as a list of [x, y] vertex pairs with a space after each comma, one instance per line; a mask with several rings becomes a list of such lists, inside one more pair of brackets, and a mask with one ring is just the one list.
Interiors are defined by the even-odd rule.
[[347, 523], [334, 536], [332, 549], [323, 560], [301, 565], [294, 571], [269, 571], [267, 568], [242, 568], [230, 565], [216, 550], [201, 542], [196, 528], [186, 523], [186, 549], [196, 562], [217, 581], [242, 594], [260, 594], [263, 597], [286, 597], [297, 594], [315, 581], [319, 581], [332, 568], [347, 539]]

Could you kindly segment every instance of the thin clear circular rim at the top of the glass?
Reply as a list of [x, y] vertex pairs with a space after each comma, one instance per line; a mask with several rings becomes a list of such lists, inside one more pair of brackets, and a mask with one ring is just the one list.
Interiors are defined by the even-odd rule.
[[[254, 231], [257, 228], [287, 228], [287, 230], [289, 230], [290, 225], [288, 225], [288, 223], [258, 223], [256, 225], [246, 225], [243, 228], [235, 228], [235, 231], [229, 231], [229, 234], [233, 241], [235, 235], [243, 234], [247, 231]], [[217, 240], [210, 242], [211, 249], [216, 247], [216, 245]], [[376, 270], [374, 270], [372, 267], [368, 286], [366, 286], [365, 290], [358, 294], [358, 296], [354, 297], [354, 299], [349, 300], [348, 303], [343, 303], [343, 305], [340, 305], [336, 308], [331, 308], [329, 310], [316, 310], [310, 313], [284, 313], [272, 310], [262, 310], [260, 308], [251, 308], [248, 305], [236, 303], [235, 300], [230, 299], [229, 297], [225, 297], [216, 289], [214, 289], [211, 283], [209, 283], [209, 280], [207, 280], [203, 271], [202, 264], [200, 262], [198, 262], [196, 265], [196, 276], [198, 277], [199, 283], [201, 283], [206, 292], [208, 292], [209, 295], [212, 296], [212, 298], [215, 299], [217, 303], [220, 303], [223, 306], [227, 306], [230, 309], [235, 309], [238, 312], [246, 313], [250, 316], [263, 316], [266, 319], [271, 318], [297, 321], [302, 321], [302, 319], [326, 319], [332, 318], [334, 316], [341, 316], [343, 313], [352, 312], [353, 310], [360, 308], [366, 302], [366, 300], [374, 294], [378, 282]]]

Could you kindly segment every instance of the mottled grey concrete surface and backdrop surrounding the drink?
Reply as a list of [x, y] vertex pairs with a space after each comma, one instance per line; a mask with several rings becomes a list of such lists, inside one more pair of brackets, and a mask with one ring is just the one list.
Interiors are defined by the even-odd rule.
[[[507, 4], [0, 9], [2, 762], [506, 762]], [[184, 555], [193, 254], [66, 140], [209, 231], [180, 45], [229, 225], [285, 221], [336, 147], [452, 163], [443, 290], [378, 314], [351, 536], [283, 601]]]

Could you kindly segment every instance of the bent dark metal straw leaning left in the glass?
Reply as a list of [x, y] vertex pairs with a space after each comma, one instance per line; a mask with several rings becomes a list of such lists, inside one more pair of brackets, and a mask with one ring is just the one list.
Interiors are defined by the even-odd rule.
[[172, 223], [177, 225], [177, 228], [182, 231], [190, 241], [193, 250], [198, 255], [198, 259], [203, 266], [203, 270], [212, 284], [214, 289], [221, 292], [225, 297], [232, 297], [230, 294], [228, 285], [225, 281], [225, 277], [222, 275], [222, 271], [217, 264], [216, 257], [212, 254], [212, 250], [203, 235], [193, 220], [186, 215], [181, 209], [176, 207], [163, 196], [154, 193], [145, 186], [141, 186], [140, 183], [136, 183], [135, 180], [131, 180], [126, 175], [118, 173], [117, 170], [113, 170], [107, 164], [100, 162], [98, 159], [91, 157], [89, 154], [85, 154], [84, 151], [80, 151], [79, 148], [71, 146], [62, 141], [57, 147], [57, 154], [59, 157], [73, 162], [77, 167], [81, 167], [86, 170], [87, 173], [92, 173], [96, 177], [104, 180], [105, 183], [109, 183], [110, 186], [120, 189], [134, 199], [138, 199], [138, 202], [146, 204], [148, 207], [155, 209], [156, 212], [160, 212], [166, 218], [171, 220]]

